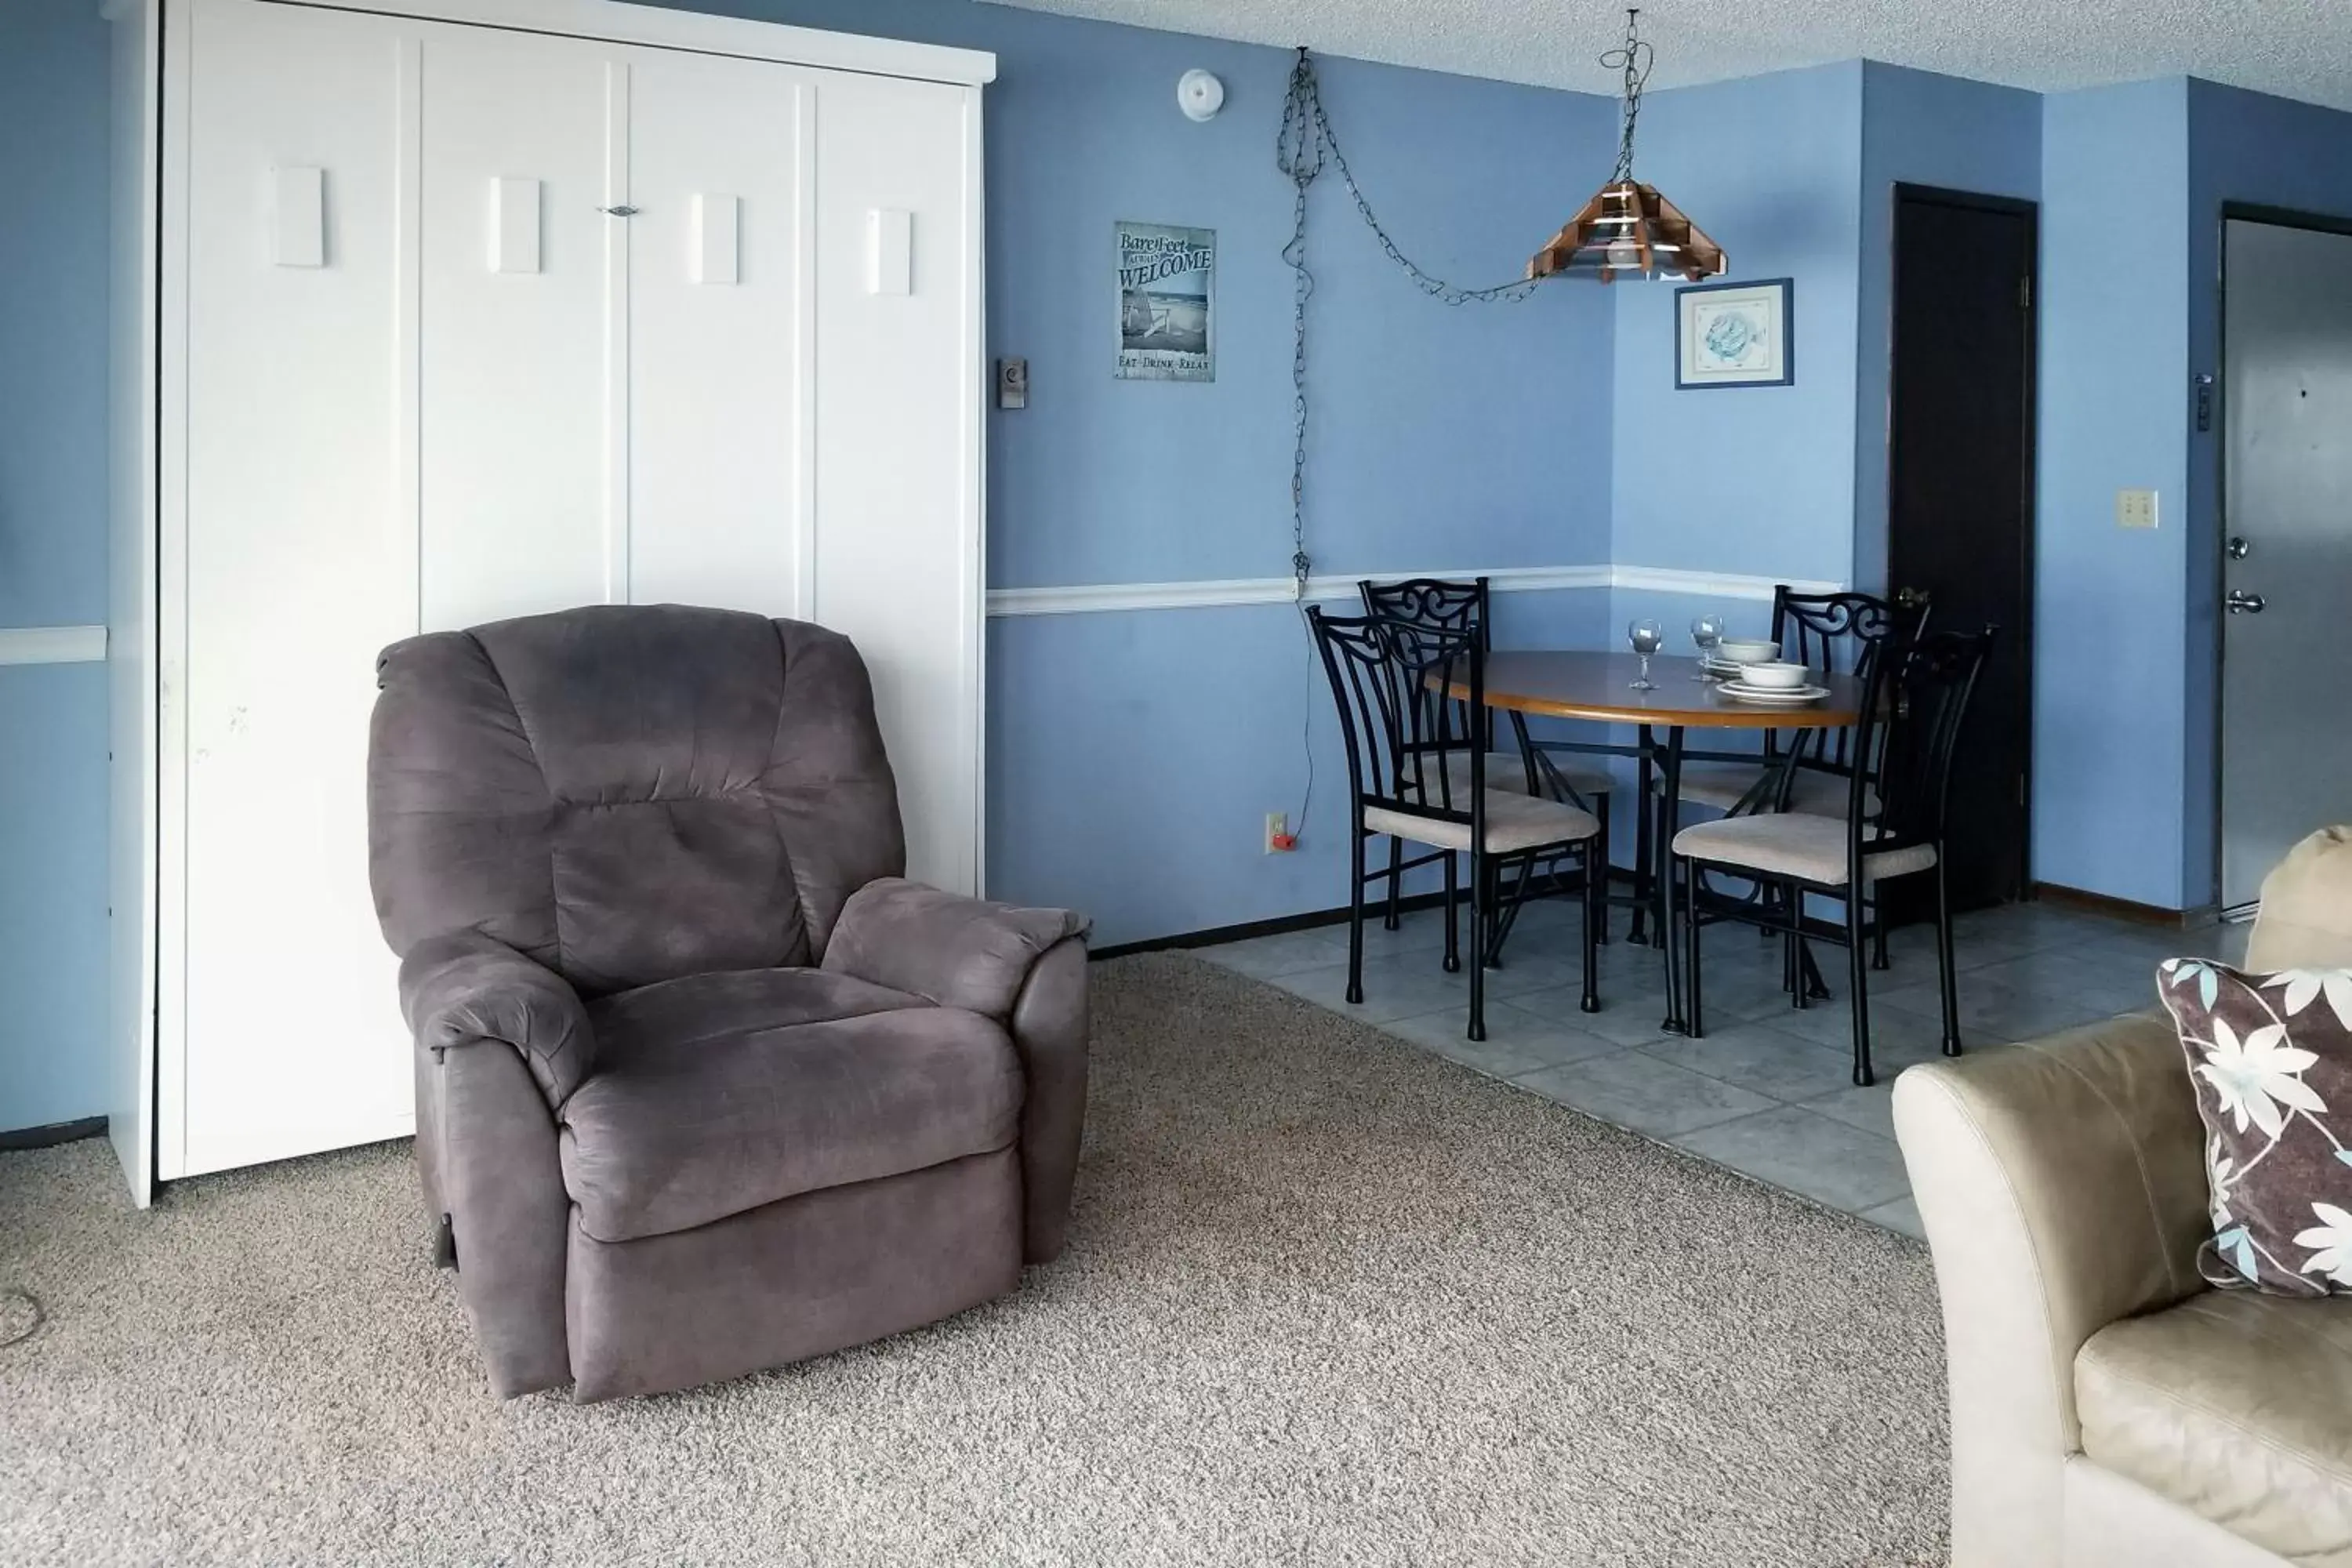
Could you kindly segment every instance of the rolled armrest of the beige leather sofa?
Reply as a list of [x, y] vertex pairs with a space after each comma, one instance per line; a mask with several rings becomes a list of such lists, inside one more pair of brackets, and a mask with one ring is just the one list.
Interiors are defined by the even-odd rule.
[[1943, 1298], [1952, 1563], [2053, 1566], [2077, 1352], [2206, 1288], [2187, 1060], [2169, 1020], [2112, 1018], [1912, 1067], [1893, 1110]]

